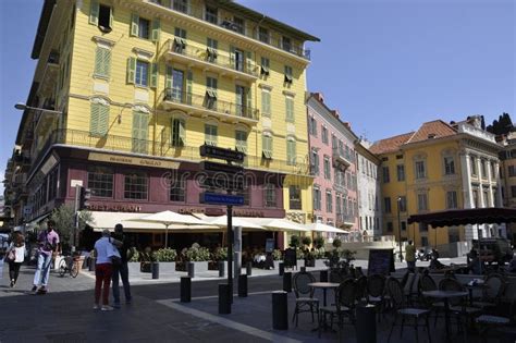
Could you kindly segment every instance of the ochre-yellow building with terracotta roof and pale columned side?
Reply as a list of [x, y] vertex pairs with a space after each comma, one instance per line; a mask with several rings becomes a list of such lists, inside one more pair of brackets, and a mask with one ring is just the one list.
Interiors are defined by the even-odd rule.
[[500, 146], [480, 128], [479, 118], [427, 122], [416, 132], [374, 143], [371, 151], [382, 160], [384, 234], [442, 250], [456, 242], [493, 235], [493, 225], [479, 230], [407, 225], [410, 215], [500, 204]]

